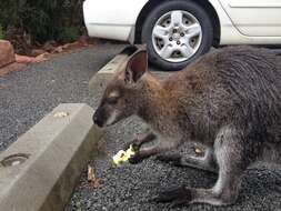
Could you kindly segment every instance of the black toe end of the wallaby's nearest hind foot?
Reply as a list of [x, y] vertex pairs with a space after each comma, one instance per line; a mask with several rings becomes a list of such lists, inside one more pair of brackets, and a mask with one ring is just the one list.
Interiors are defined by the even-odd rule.
[[185, 203], [190, 203], [192, 200], [191, 190], [185, 188], [184, 185], [168, 189], [163, 192], [160, 192], [153, 201], [155, 202], [172, 202], [173, 205], [181, 205]]

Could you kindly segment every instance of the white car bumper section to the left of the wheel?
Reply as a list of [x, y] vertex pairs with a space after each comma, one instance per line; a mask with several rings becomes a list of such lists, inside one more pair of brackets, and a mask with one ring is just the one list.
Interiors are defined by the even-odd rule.
[[84, 22], [90, 37], [129, 41], [148, 0], [86, 0]]

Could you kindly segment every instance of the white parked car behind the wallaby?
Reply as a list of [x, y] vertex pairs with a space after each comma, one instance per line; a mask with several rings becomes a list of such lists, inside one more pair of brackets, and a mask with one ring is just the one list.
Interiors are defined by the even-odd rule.
[[281, 43], [281, 0], [86, 0], [83, 13], [90, 37], [147, 43], [167, 70], [212, 46]]

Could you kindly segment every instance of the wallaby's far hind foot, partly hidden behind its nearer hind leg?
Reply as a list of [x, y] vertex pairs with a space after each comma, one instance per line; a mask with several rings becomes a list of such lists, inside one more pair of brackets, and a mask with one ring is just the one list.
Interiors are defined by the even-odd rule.
[[203, 157], [183, 157], [179, 153], [162, 154], [157, 157], [157, 160], [161, 162], [169, 162], [175, 167], [191, 167], [204, 171], [218, 173], [218, 165], [214, 161], [213, 149], [208, 148]]

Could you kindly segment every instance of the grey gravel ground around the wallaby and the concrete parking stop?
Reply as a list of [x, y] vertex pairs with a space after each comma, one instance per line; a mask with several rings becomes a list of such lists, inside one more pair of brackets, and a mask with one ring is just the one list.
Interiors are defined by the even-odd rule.
[[[121, 48], [119, 44], [99, 44], [0, 78], [0, 150], [61, 102], [86, 102], [96, 107], [99, 99], [89, 97], [88, 81]], [[137, 165], [113, 168], [111, 155], [145, 129], [147, 125], [138, 118], [106, 129], [103, 149], [89, 161], [96, 169], [100, 185], [97, 189], [88, 185], [86, 168], [66, 211], [281, 210], [281, 167], [264, 163], [245, 172], [234, 205], [172, 208], [169, 203], [149, 202], [158, 191], [171, 185], [211, 187], [215, 175], [190, 168], [175, 168], [153, 159]], [[193, 153], [189, 145], [180, 150]]]

